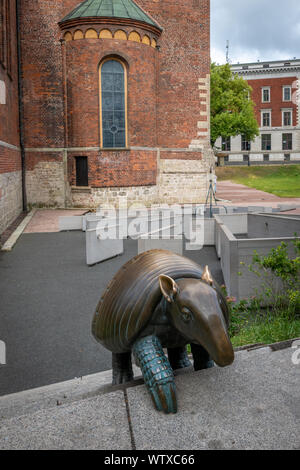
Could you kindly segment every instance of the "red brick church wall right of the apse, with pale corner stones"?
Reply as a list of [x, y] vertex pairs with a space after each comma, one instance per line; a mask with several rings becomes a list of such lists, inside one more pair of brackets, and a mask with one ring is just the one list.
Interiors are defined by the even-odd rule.
[[210, 73], [210, 1], [138, 3], [164, 28], [159, 40], [158, 145], [186, 148], [197, 138], [201, 120], [198, 79]]

